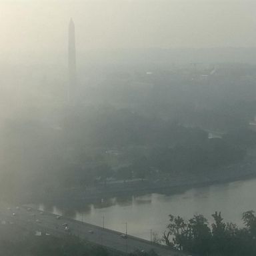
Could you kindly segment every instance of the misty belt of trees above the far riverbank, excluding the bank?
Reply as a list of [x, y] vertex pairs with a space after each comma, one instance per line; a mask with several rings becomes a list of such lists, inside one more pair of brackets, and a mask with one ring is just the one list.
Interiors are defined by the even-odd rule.
[[[202, 129], [127, 109], [62, 109], [56, 123], [36, 114], [5, 121], [0, 189], [7, 199], [93, 185], [97, 178], [144, 178], [153, 170], [211, 171], [241, 161], [256, 144], [247, 129], [208, 139]], [[108, 149], [118, 156], [109, 157]]]

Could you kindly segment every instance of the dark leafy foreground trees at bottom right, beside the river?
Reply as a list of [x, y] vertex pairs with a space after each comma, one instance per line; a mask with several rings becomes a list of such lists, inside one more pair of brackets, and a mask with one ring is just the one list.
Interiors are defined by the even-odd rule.
[[194, 215], [188, 221], [180, 216], [169, 217], [163, 234], [163, 241], [169, 247], [202, 256], [256, 255], [254, 211], [243, 213], [245, 227], [225, 223], [220, 212], [212, 215], [212, 224], [203, 215]]

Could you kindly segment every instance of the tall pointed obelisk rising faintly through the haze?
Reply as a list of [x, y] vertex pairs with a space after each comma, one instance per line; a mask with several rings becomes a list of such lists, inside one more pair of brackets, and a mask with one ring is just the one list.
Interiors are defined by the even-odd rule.
[[77, 87], [77, 71], [76, 71], [76, 56], [75, 56], [75, 24], [73, 19], [69, 21], [69, 43], [68, 43], [68, 66], [69, 66], [69, 102], [73, 101]]

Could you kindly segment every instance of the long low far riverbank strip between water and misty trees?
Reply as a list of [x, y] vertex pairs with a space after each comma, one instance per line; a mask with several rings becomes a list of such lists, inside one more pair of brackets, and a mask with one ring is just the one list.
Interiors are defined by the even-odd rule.
[[41, 202], [73, 207], [81, 203], [97, 203], [111, 197], [129, 197], [160, 193], [165, 195], [182, 193], [191, 188], [205, 187], [217, 183], [230, 183], [256, 177], [256, 161], [229, 165], [211, 171], [201, 171], [183, 176], [173, 176], [165, 180], [141, 180], [135, 182], [106, 183], [95, 187], [65, 189], [55, 196], [42, 197]]

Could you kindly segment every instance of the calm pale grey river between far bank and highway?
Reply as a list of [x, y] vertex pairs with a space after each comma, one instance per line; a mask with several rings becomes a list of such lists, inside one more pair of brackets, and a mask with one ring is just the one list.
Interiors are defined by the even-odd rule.
[[61, 209], [39, 205], [39, 209], [115, 229], [144, 239], [152, 233], [159, 237], [168, 223], [169, 214], [190, 218], [200, 213], [209, 221], [211, 214], [221, 211], [224, 221], [243, 225], [244, 211], [256, 210], [256, 179], [189, 189], [177, 195], [149, 194], [139, 197], [115, 197], [79, 209]]

